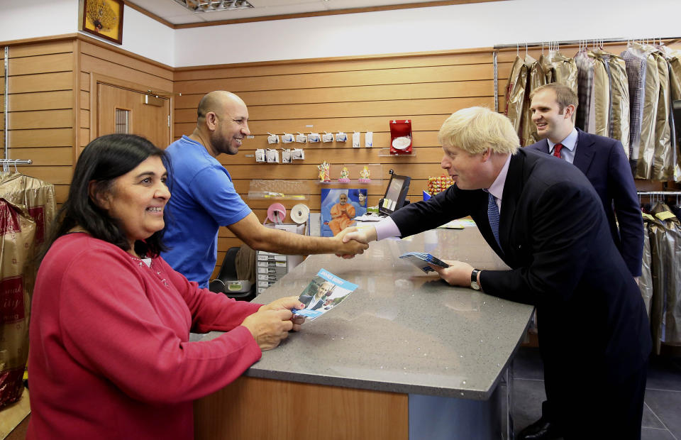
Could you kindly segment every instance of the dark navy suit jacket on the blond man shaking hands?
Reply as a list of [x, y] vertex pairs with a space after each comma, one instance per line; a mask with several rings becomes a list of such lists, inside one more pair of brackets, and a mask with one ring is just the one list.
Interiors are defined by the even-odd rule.
[[511, 268], [483, 270], [482, 289], [536, 305], [546, 368], [572, 372], [562, 380], [620, 380], [641, 368], [651, 347], [646, 307], [610, 238], [598, 194], [580, 170], [519, 149], [504, 183], [501, 247], [482, 189], [453, 185], [391, 217], [402, 236], [410, 236], [468, 215]]

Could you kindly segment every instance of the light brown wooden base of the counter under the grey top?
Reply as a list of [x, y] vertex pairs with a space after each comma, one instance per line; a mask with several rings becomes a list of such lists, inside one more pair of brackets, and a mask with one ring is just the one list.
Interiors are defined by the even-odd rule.
[[196, 440], [408, 439], [409, 395], [241, 377], [194, 402]]

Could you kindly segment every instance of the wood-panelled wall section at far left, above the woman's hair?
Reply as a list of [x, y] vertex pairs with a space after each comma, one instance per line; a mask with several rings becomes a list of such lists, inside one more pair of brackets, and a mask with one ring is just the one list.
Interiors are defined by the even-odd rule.
[[[8, 156], [32, 160], [18, 170], [54, 184], [57, 203], [66, 198], [74, 164], [75, 47], [74, 40], [9, 47]], [[4, 96], [1, 102], [4, 109]]]

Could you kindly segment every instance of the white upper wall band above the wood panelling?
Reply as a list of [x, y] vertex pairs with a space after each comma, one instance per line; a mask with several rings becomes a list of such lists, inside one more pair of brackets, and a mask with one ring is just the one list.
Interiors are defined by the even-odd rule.
[[[184, 67], [543, 40], [671, 38], [681, 36], [680, 17], [680, 0], [514, 0], [173, 31], [126, 8], [121, 47]], [[74, 33], [77, 21], [78, 0], [0, 0], [0, 41]]]

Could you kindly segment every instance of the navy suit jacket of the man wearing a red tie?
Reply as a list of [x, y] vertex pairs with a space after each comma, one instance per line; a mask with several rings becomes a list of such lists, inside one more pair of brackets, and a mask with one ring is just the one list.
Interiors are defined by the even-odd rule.
[[[525, 148], [548, 154], [543, 139]], [[587, 176], [605, 208], [615, 246], [634, 277], [641, 276], [643, 258], [643, 219], [636, 198], [629, 160], [620, 141], [585, 133], [577, 128], [577, 148], [572, 163]], [[619, 230], [617, 223], [619, 222]]]

